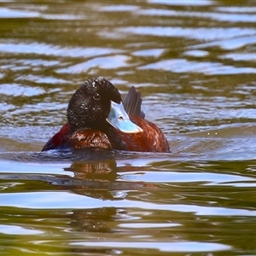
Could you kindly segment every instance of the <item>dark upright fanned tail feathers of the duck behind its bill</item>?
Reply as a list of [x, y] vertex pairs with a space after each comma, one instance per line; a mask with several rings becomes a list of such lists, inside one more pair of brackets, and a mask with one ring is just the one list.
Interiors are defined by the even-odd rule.
[[142, 111], [142, 102], [141, 93], [135, 89], [134, 86], [131, 86], [127, 96], [124, 100], [124, 108], [126, 113], [129, 115], [139, 116], [145, 118], [145, 113]]

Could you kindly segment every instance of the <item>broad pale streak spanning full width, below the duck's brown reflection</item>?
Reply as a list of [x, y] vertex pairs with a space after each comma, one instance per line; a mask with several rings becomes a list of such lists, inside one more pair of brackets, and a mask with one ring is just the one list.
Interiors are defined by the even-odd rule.
[[145, 201], [101, 201], [69, 192], [33, 192], [1, 194], [1, 205], [5, 207], [28, 207], [32, 209], [90, 209], [97, 207], [137, 208], [170, 212], [194, 212], [198, 216], [255, 216], [256, 211], [227, 207], [201, 207], [182, 204], [155, 204]]

